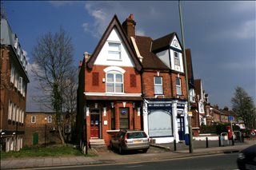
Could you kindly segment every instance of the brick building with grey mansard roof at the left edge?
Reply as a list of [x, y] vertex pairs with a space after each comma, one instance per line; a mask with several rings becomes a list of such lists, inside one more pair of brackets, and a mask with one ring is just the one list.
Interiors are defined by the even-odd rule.
[[6, 18], [1, 18], [1, 149], [18, 151], [24, 138], [27, 76], [26, 53]]

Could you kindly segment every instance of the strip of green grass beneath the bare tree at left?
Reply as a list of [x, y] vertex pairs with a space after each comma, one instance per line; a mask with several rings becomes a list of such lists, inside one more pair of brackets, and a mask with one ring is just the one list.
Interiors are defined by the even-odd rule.
[[[73, 145], [52, 145], [48, 147], [24, 147], [18, 152], [1, 152], [1, 159], [40, 156], [84, 156]], [[87, 156], [93, 156], [89, 154]]]

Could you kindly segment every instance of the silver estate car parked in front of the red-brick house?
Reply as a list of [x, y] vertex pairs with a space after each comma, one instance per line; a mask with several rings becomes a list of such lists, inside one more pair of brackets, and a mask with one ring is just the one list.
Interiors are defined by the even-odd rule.
[[119, 154], [127, 150], [147, 152], [150, 148], [150, 138], [142, 130], [120, 130], [110, 140], [110, 148], [118, 149]]

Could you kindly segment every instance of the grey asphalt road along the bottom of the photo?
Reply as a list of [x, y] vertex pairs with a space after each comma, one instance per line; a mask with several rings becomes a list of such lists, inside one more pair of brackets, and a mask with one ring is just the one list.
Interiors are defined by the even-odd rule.
[[[86, 169], [86, 170], [162, 170], [162, 169], [225, 169], [234, 170], [238, 169], [236, 159], [238, 153], [226, 153], [210, 156], [194, 156], [187, 158], [180, 158], [174, 160], [158, 160], [143, 162], [138, 164], [102, 164], [102, 165], [89, 165], [89, 166], [69, 166], [69, 167], [55, 167], [55, 168], [44, 168], [44, 169]], [[40, 168], [37, 168], [40, 169]]]

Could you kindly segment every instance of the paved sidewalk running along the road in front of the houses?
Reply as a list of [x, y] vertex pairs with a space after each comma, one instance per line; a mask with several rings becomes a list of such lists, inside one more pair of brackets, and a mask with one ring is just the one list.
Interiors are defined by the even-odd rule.
[[146, 153], [127, 152], [119, 155], [117, 152], [110, 151], [106, 148], [93, 148], [90, 152], [94, 152], [96, 156], [62, 156], [62, 157], [29, 157], [29, 158], [11, 158], [1, 159], [1, 169], [19, 169], [19, 168], [49, 168], [64, 166], [79, 166], [92, 164], [135, 164], [138, 162], [151, 162], [158, 160], [170, 160], [177, 158], [185, 158], [191, 156], [208, 156], [222, 153], [239, 152], [243, 148], [256, 144], [256, 140], [245, 140], [235, 142], [232, 145], [223, 143], [218, 146], [218, 140], [209, 140], [206, 148], [206, 141], [194, 140], [193, 153], [189, 152], [189, 146], [182, 143], [176, 144], [177, 150], [174, 151], [174, 143], [168, 144], [152, 144]]

